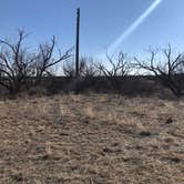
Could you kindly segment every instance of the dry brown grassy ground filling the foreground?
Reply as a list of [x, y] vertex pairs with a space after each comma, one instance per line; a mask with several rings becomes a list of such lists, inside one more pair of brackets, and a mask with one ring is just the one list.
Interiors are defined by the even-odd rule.
[[183, 184], [184, 100], [0, 100], [1, 184]]

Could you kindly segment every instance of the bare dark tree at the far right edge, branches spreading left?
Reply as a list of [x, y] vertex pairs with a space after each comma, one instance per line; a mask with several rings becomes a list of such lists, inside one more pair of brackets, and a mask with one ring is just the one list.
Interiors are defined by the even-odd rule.
[[183, 75], [184, 75], [184, 55], [183, 53], [174, 54], [172, 47], [168, 44], [162, 50], [165, 60], [156, 61], [159, 50], [149, 49], [151, 53], [150, 61], [141, 61], [134, 58], [133, 64], [136, 69], [145, 70], [154, 74], [165, 88], [168, 88], [173, 94], [181, 96], [183, 94]]

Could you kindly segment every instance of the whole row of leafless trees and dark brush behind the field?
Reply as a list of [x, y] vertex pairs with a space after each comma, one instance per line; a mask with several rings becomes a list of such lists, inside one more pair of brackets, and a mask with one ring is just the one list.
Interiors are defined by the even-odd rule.
[[[120, 52], [116, 58], [106, 53], [106, 61], [93, 58], [80, 59], [79, 76], [72, 49], [59, 52], [55, 57], [55, 38], [50, 43], [40, 44], [32, 53], [24, 44], [28, 34], [19, 30], [18, 40], [11, 43], [0, 40], [0, 86], [1, 93], [10, 95], [32, 89], [44, 88], [50, 93], [75, 93], [94, 90], [125, 95], [150, 95], [172, 92], [180, 98], [184, 92], [184, 54], [174, 52], [172, 47], [152, 49], [150, 59], [131, 58]], [[161, 60], [162, 59], [162, 60]], [[55, 76], [55, 68], [62, 64], [61, 73]], [[60, 64], [61, 67], [61, 64]]]

